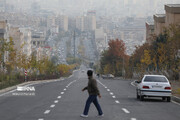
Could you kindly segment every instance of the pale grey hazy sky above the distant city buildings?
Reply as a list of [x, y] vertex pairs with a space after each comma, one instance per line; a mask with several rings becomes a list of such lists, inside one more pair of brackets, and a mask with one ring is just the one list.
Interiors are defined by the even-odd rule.
[[145, 16], [164, 12], [164, 4], [180, 4], [180, 0], [7, 0], [17, 8], [29, 9], [37, 2], [42, 9], [67, 15], [96, 10], [99, 15]]

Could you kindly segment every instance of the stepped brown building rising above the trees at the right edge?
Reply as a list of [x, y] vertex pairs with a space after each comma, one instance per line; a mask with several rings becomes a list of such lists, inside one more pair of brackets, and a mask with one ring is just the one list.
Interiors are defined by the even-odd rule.
[[153, 17], [154, 25], [146, 23], [147, 43], [152, 42], [149, 39], [151, 34], [158, 36], [165, 28], [169, 27], [169, 25], [180, 25], [180, 4], [167, 4], [165, 5], [165, 14], [155, 14]]

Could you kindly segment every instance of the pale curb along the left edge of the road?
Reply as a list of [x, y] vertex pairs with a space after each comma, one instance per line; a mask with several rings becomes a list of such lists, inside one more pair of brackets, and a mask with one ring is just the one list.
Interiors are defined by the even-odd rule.
[[17, 84], [5, 89], [0, 90], [0, 95], [6, 93], [6, 92], [10, 92], [13, 91], [17, 88], [17, 86], [28, 86], [28, 85], [36, 85], [36, 84], [43, 84], [43, 83], [50, 83], [50, 82], [56, 82], [56, 81], [62, 81], [64, 80], [64, 78], [60, 78], [60, 79], [52, 79], [52, 80], [38, 80], [38, 81], [28, 81], [28, 82], [24, 82], [21, 84]]

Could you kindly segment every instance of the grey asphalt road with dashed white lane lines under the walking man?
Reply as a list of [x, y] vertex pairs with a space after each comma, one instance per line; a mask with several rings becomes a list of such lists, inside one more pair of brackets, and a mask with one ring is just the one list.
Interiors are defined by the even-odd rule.
[[130, 80], [98, 80], [104, 117], [92, 104], [88, 118], [81, 118], [87, 92], [86, 73], [81, 70], [64, 80], [32, 85], [34, 96], [17, 93], [0, 96], [0, 120], [179, 120], [180, 105], [161, 99], [136, 99]]

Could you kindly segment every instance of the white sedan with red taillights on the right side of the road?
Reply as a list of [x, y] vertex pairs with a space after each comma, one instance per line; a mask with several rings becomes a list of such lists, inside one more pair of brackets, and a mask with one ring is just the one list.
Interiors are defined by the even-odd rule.
[[137, 83], [137, 99], [144, 97], [162, 97], [167, 102], [171, 101], [171, 85], [164, 75], [144, 75]]

